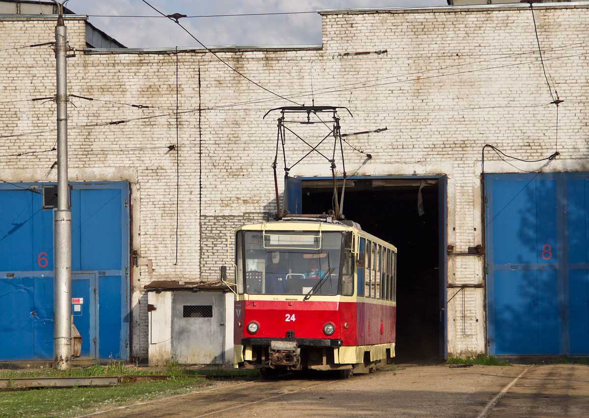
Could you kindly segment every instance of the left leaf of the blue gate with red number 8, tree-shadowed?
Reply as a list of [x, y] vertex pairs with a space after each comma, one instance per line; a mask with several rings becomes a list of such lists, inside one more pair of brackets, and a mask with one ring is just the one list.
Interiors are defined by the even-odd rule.
[[537, 175], [501, 183], [489, 225], [493, 261], [499, 265], [494, 272], [495, 351], [558, 354], [556, 182]]

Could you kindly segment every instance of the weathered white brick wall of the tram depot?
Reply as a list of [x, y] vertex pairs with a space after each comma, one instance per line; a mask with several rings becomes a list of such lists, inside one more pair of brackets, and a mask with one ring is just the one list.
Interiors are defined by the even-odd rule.
[[[589, 5], [534, 8], [552, 93], [558, 90], [565, 100], [559, 107], [561, 155], [548, 164], [507, 163], [488, 151], [485, 171], [589, 170]], [[71, 98], [71, 180], [130, 180], [133, 249], [153, 262], [151, 274], [145, 266], [134, 269], [135, 357], [147, 356], [143, 285], [217, 280], [227, 232], [275, 210], [270, 164], [276, 121], [262, 116], [292, 104], [284, 98], [349, 107], [353, 118], [340, 114], [344, 133], [388, 127], [349, 137], [373, 159], [346, 150], [348, 174], [447, 175], [448, 244], [455, 252], [483, 241], [484, 144], [521, 159], [541, 159], [556, 149], [556, 109], [527, 5], [325, 12], [322, 48], [216, 51], [284, 98], [249, 83], [206, 51], [84, 52], [84, 21], [68, 19], [67, 26], [77, 50], [68, 59], [68, 93], [95, 99]], [[46, 152], [55, 143], [55, 106], [31, 101], [54, 94], [54, 55], [51, 47], [26, 48], [53, 39], [51, 19], [0, 19], [5, 181], [55, 180], [55, 153]], [[178, 149], [168, 149], [176, 141]], [[287, 143], [293, 159], [303, 150]], [[39, 153], [12, 155], [22, 152]], [[291, 175], [329, 176], [329, 164], [313, 156]], [[482, 284], [483, 266], [478, 256], [449, 256], [448, 282]], [[448, 299], [457, 290], [449, 288]], [[450, 301], [449, 355], [485, 351], [484, 296], [484, 288], [468, 288]]]

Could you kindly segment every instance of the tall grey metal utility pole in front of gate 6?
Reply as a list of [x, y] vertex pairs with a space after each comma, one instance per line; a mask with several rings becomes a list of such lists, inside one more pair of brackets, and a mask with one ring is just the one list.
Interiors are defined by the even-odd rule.
[[54, 212], [54, 367], [70, 368], [71, 361], [71, 211], [68, 208], [68, 94], [67, 31], [64, 4], [53, 0], [59, 9], [55, 27], [57, 68], [57, 210]]

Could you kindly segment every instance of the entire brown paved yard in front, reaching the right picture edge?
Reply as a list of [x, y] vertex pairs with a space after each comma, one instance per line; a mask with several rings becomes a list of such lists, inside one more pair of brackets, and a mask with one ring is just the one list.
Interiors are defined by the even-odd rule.
[[290, 377], [226, 384], [99, 416], [587, 417], [589, 366], [423, 366], [345, 380]]

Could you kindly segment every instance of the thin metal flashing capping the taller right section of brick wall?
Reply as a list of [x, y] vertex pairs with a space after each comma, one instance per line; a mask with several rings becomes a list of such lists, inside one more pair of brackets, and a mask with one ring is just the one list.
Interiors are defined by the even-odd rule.
[[[544, 8], [575, 8], [575, 6], [589, 6], [589, 1], [571, 1], [554, 3], [534, 3], [535, 9]], [[477, 4], [463, 6], [427, 6], [427, 7], [388, 7], [388, 8], [358, 8], [358, 9], [319, 9], [319, 14], [344, 14], [344, 13], [370, 13], [370, 12], [464, 12], [468, 9], [514, 9], [530, 8], [528, 3], [504, 3], [504, 4]]]

